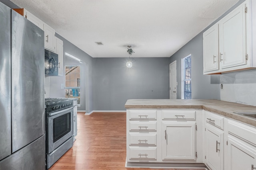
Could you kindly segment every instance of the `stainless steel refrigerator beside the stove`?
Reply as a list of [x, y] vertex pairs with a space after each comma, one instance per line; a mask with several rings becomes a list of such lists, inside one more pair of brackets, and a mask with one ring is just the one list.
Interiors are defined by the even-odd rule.
[[0, 2], [0, 170], [45, 170], [44, 31]]

